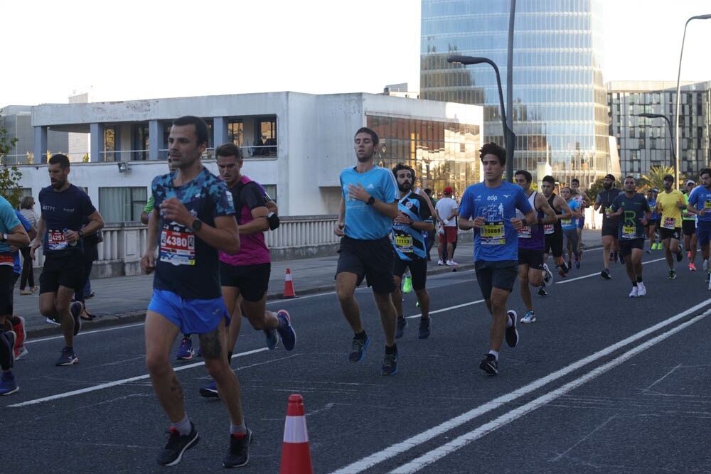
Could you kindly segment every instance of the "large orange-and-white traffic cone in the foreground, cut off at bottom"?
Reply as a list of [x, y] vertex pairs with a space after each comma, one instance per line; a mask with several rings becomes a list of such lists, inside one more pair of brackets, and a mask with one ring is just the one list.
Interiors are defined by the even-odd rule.
[[299, 394], [289, 395], [282, 446], [282, 465], [279, 468], [279, 474], [314, 473], [314, 468], [311, 467], [309, 433], [306, 433], [304, 400]]

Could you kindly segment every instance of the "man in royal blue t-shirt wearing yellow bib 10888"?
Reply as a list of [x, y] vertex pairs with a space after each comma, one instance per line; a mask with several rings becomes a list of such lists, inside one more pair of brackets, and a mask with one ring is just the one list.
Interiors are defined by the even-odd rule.
[[[488, 143], [481, 147], [479, 158], [484, 181], [469, 186], [461, 196], [459, 228], [474, 229], [476, 280], [491, 313], [491, 350], [479, 368], [496, 375], [504, 335], [511, 348], [518, 343], [518, 316], [513, 310], [506, 311], [508, 295], [518, 278], [518, 230], [537, 221], [523, 189], [503, 181], [506, 150]], [[523, 220], [516, 217], [517, 209], [523, 212]]]

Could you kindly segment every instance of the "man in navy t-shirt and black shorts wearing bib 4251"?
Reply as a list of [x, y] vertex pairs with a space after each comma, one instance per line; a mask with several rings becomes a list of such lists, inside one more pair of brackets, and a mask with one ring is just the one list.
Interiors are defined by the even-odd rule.
[[[39, 193], [42, 214], [37, 237], [31, 244], [30, 257], [34, 259], [35, 251], [44, 245], [40, 312], [48, 322], [62, 326], [64, 348], [55, 362], [59, 367], [79, 362], [74, 351], [74, 336], [82, 328], [82, 303], [71, 301], [74, 292], [82, 288], [82, 237], [104, 227], [104, 220], [89, 196], [69, 182], [69, 158], [56, 154], [49, 158], [48, 163], [51, 185], [42, 188]], [[82, 227], [85, 221], [88, 224]]]

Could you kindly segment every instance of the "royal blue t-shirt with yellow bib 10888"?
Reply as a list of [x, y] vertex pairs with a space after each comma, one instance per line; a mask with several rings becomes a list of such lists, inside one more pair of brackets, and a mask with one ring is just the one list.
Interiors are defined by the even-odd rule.
[[462, 219], [483, 217], [484, 224], [474, 228], [474, 261], [518, 262], [518, 232], [511, 225], [516, 210], [523, 215], [531, 205], [523, 189], [503, 181], [498, 188], [487, 188], [484, 183], [469, 186], [461, 196], [459, 215]]

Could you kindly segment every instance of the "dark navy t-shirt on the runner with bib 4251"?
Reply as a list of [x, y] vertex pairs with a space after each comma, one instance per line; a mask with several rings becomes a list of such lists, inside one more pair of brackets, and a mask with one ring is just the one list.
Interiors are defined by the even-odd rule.
[[64, 237], [64, 230], [80, 230], [85, 218], [95, 212], [96, 208], [87, 193], [73, 184], [60, 193], [47, 186], [40, 190], [38, 198], [46, 227], [44, 254], [50, 257], [81, 252], [81, 239], [78, 244], [70, 245]]

